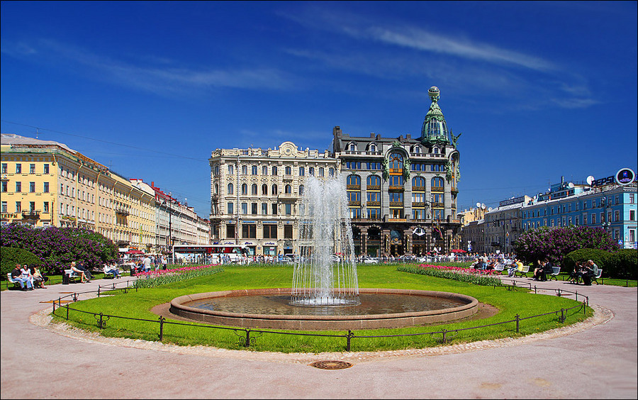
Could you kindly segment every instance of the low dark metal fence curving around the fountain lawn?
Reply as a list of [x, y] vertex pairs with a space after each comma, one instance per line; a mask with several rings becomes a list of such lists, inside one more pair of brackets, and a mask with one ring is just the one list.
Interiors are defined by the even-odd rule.
[[[121, 290], [124, 293], [127, 293], [129, 290], [133, 290], [135, 289], [135, 291], [138, 291], [138, 288], [135, 287], [134, 285], [130, 285], [130, 282], [135, 282], [135, 281], [126, 281], [126, 282], [113, 282], [112, 284], [108, 284], [108, 285], [103, 285], [103, 286], [99, 286], [98, 289], [95, 291], [84, 291], [82, 293], [73, 293], [73, 294], [68, 294], [67, 296], [60, 296], [57, 299], [57, 303], [56, 301], [53, 301], [53, 313], [56, 316], [60, 316], [60, 310], [61, 309], [65, 309], [66, 310], [66, 316], [65, 318], [68, 320], [69, 319], [69, 310], [70, 311], [75, 311], [75, 312], [79, 312], [79, 313], [86, 313], [86, 314], [91, 314], [94, 316], [94, 318], [96, 319], [96, 323], [97, 326], [100, 329], [106, 328], [106, 321], [110, 320], [111, 318], [121, 318], [121, 319], [129, 319], [129, 320], [134, 320], [134, 321], [145, 321], [145, 322], [149, 322], [149, 323], [157, 323], [158, 325], [158, 337], [159, 337], [159, 341], [162, 342], [164, 340], [164, 326], [166, 325], [176, 325], [176, 326], [189, 326], [191, 328], [203, 328], [203, 329], [221, 329], [221, 330], [232, 330], [233, 333], [235, 333], [235, 335], [237, 335], [237, 337], [240, 338], [240, 345], [242, 345], [245, 348], [249, 348], [251, 343], [254, 343], [254, 341], [261, 337], [262, 335], [264, 335], [265, 333], [269, 333], [269, 334], [274, 334], [274, 335], [300, 335], [300, 336], [320, 336], [323, 338], [343, 338], [345, 340], [345, 350], [346, 351], [350, 351], [351, 348], [351, 344], [352, 344], [352, 340], [354, 339], [363, 339], [363, 338], [399, 338], [399, 337], [408, 337], [408, 336], [425, 336], [425, 335], [430, 335], [431, 338], [435, 338], [435, 340], [437, 340], [439, 343], [447, 343], [447, 341], [450, 339], [450, 335], [454, 335], [452, 336], [452, 338], [456, 338], [457, 335], [459, 335], [459, 333], [465, 331], [465, 330], [474, 330], [474, 329], [480, 329], [480, 328], [488, 328], [490, 326], [498, 326], [498, 325], [505, 325], [505, 324], [513, 324], [515, 325], [515, 332], [516, 333], [520, 333], [520, 323], [521, 321], [526, 321], [526, 320], [531, 320], [532, 318], [539, 318], [542, 316], [549, 316], [549, 315], [555, 315], [559, 321], [559, 323], [564, 323], [566, 321], [566, 318], [568, 316], [568, 312], [569, 311], [573, 311], [573, 315], [576, 315], [576, 313], [579, 313], [580, 311], [583, 312], [583, 316], [586, 316], [587, 310], [586, 310], [586, 306], [589, 305], [589, 297], [588, 296], [584, 296], [583, 294], [578, 294], [578, 291], [569, 291], [569, 290], [563, 290], [563, 289], [542, 289], [544, 291], [554, 291], [556, 293], [556, 296], [566, 296], [566, 295], [571, 295], [574, 294], [576, 295], [576, 301], [578, 301], [578, 296], [581, 296], [581, 298], [583, 299], [581, 304], [578, 304], [577, 306], [573, 306], [570, 307], [568, 309], [560, 309], [560, 310], [556, 310], [556, 311], [550, 311], [548, 313], [541, 313], [535, 316], [526, 316], [526, 317], [521, 317], [519, 314], [516, 314], [515, 318], [513, 320], [510, 321], [503, 321], [503, 322], [498, 322], [498, 323], [491, 323], [488, 325], [481, 325], [481, 326], [473, 326], [470, 328], [459, 328], [459, 329], [450, 329], [450, 330], [446, 330], [446, 329], [442, 329], [436, 332], [423, 332], [423, 333], [405, 333], [405, 334], [399, 334], [399, 335], [357, 335], [357, 333], [355, 333], [355, 331], [353, 330], [348, 330], [347, 334], [325, 334], [325, 333], [297, 333], [297, 332], [279, 332], [276, 330], [264, 330], [264, 329], [251, 329], [251, 328], [239, 328], [239, 327], [230, 327], [230, 326], [206, 326], [206, 325], [192, 325], [191, 323], [180, 323], [177, 321], [167, 321], [166, 318], [164, 318], [164, 316], [159, 316], [159, 318], [157, 320], [151, 320], [151, 319], [143, 319], [143, 318], [133, 318], [133, 317], [126, 317], [126, 316], [115, 316], [115, 315], [109, 315], [109, 314], [105, 314], [105, 313], [93, 313], [90, 311], [82, 311], [82, 310], [78, 310], [78, 309], [72, 309], [70, 307], [70, 303], [71, 301], [67, 301], [65, 299], [70, 298], [72, 299], [72, 302], [77, 301], [79, 294], [88, 294], [88, 293], [97, 293], [97, 296], [102, 296], [105, 293], [111, 292], [111, 291], [115, 291], [115, 290]], [[120, 284], [126, 284], [125, 287], [118, 287], [118, 285]], [[521, 283], [521, 282], [516, 282], [513, 280], [513, 284], [508, 285], [502, 285], [502, 286], [494, 286], [494, 288], [496, 289], [496, 287], [504, 287], [508, 290], [513, 290], [517, 287], [526, 287], [530, 290], [534, 290], [535, 293], [537, 293], [537, 290], [540, 288], [537, 288], [535, 285], [532, 287], [531, 283]], [[65, 302], [65, 304], [63, 304], [63, 300]], [[56, 306], [57, 306], [57, 311], [58, 313], [56, 313]], [[440, 335], [440, 338], [438, 337], [438, 335]]]

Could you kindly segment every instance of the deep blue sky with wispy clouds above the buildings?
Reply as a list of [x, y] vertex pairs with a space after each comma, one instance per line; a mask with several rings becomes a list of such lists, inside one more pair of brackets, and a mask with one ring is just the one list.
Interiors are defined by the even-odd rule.
[[210, 210], [216, 148], [459, 138], [459, 210], [637, 171], [635, 1], [2, 1], [1, 132]]

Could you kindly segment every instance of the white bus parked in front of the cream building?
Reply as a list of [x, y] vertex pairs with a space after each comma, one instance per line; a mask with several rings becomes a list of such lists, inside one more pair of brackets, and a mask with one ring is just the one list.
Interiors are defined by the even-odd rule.
[[174, 245], [173, 260], [182, 264], [240, 263], [248, 252], [245, 245]]

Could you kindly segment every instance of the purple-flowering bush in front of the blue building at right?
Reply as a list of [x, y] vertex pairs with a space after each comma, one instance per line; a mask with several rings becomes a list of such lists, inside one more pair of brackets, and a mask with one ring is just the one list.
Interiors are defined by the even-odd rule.
[[614, 252], [618, 245], [603, 228], [571, 225], [528, 230], [520, 235], [514, 246], [517, 256], [525, 262], [548, 257], [556, 265], [562, 265], [565, 255], [583, 248]]

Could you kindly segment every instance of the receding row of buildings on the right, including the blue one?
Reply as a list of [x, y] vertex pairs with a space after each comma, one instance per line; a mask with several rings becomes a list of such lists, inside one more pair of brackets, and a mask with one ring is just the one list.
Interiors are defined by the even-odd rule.
[[[621, 168], [611, 177], [552, 184], [536, 196], [500, 201], [496, 209], [476, 204], [460, 213], [460, 243], [471, 252], [513, 252], [521, 233], [543, 226], [590, 226], [605, 229], [620, 248], [637, 248], [637, 181]], [[472, 218], [477, 216], [478, 218]]]

